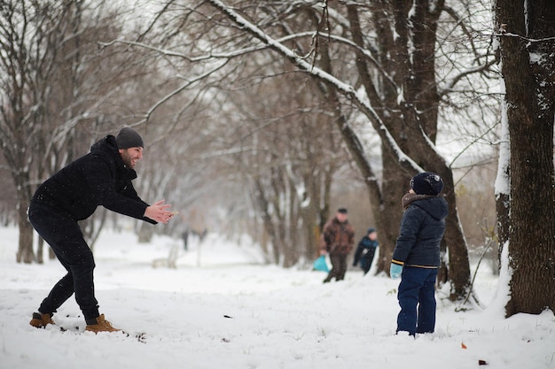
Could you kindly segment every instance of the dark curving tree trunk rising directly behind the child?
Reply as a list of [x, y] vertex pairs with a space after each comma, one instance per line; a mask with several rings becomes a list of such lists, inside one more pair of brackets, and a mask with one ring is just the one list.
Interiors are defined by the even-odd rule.
[[[438, 125], [440, 97], [435, 81], [434, 57], [437, 22], [443, 6], [443, 1], [431, 6], [428, 0], [394, 5], [395, 30], [399, 34], [396, 40], [396, 74], [399, 83], [403, 84], [406, 104], [399, 106], [403, 113], [402, 121], [394, 120], [396, 129], [392, 131], [396, 133], [397, 142], [402, 142], [400, 146], [403, 151], [424, 170], [439, 173], [445, 183], [442, 196], [449, 204], [449, 215], [442, 248], [447, 250], [449, 259], [442, 259], [438, 281], [449, 281], [449, 298], [457, 300], [465, 298], [469, 293], [471, 273], [468, 250], [458, 218], [452, 170], [428, 142], [435, 142]], [[410, 43], [414, 45], [412, 48]], [[410, 68], [403, 64], [407, 60], [410, 60]]]

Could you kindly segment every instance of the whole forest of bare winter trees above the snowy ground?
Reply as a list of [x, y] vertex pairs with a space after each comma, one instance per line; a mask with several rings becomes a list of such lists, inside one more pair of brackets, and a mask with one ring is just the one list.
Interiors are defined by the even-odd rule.
[[[25, 212], [35, 187], [124, 125], [145, 138], [139, 193], [146, 201], [166, 198], [181, 211], [180, 221], [160, 229], [168, 234], [183, 227], [249, 234], [268, 262], [309, 265], [324, 222], [348, 206], [357, 236], [379, 229], [378, 273], [387, 272], [400, 199], [410, 177], [426, 170], [446, 184], [440, 283], [449, 284], [451, 299], [472, 294], [469, 250], [492, 242], [496, 249], [497, 237], [516, 245], [509, 246], [515, 257], [536, 236], [543, 246], [535, 260], [553, 260], [555, 98], [548, 50], [555, 32], [548, 21], [530, 30], [521, 28], [524, 21], [507, 28], [511, 22], [503, 19], [527, 12], [524, 4], [504, 3], [492, 10], [481, 0], [2, 2], [0, 168], [13, 194], [0, 200], [10, 209], [3, 223], [20, 227], [17, 260], [42, 256], [33, 250]], [[537, 6], [527, 14], [540, 19]], [[520, 87], [528, 97], [509, 100], [515, 88], [509, 77], [521, 77], [514, 71], [526, 69], [527, 59], [520, 65], [505, 59], [532, 52], [510, 49], [526, 46], [523, 40], [543, 40], [533, 42], [534, 55], [546, 64], [528, 63], [527, 80], [541, 84], [535, 76], [542, 75], [542, 96], [551, 104], [528, 102], [533, 94]], [[546, 121], [530, 112], [529, 124], [512, 125], [524, 117], [509, 111], [507, 139], [504, 98], [509, 106], [528, 98], [530, 106], [545, 108]], [[500, 161], [498, 171], [506, 171], [511, 186], [500, 190], [497, 176], [495, 197], [498, 153], [507, 158], [513, 137], [541, 139], [542, 153], [522, 158], [537, 165], [523, 165], [515, 155], [522, 150], [509, 145], [511, 165]], [[523, 167], [528, 171], [515, 169]], [[547, 207], [524, 207], [548, 219], [541, 232], [533, 214], [507, 215], [519, 214], [521, 186], [530, 179], [538, 188], [525, 191], [526, 204]], [[90, 242], [107, 220], [98, 211], [82, 225]], [[145, 241], [152, 235], [152, 227], [135, 227]], [[514, 270], [539, 268], [538, 279], [553, 279], [549, 261], [520, 260]], [[515, 280], [512, 288], [527, 283]], [[515, 301], [508, 315], [538, 310]], [[553, 297], [539, 304], [555, 307]]]

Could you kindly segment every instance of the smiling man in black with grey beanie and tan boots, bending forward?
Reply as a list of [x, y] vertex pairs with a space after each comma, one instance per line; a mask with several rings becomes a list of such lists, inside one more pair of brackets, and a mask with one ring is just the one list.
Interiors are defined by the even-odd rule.
[[149, 223], [168, 223], [171, 206], [161, 200], [146, 204], [137, 196], [132, 180], [134, 170], [143, 158], [142, 137], [124, 127], [117, 137], [107, 135], [78, 158], [45, 181], [35, 192], [28, 209], [28, 218], [36, 232], [48, 242], [66, 268], [67, 274], [51, 289], [38, 312], [33, 313], [31, 326], [54, 324], [52, 315], [70, 296], [75, 300], [91, 332], [119, 331], [98, 313], [95, 298], [92, 251], [83, 239], [78, 220], [87, 219], [103, 205], [129, 217]]

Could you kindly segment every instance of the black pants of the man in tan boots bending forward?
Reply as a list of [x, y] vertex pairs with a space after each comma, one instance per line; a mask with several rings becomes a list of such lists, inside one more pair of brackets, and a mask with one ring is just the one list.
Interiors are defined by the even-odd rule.
[[50, 244], [67, 271], [38, 310], [43, 314], [56, 312], [75, 293], [75, 301], [84, 318], [97, 318], [98, 301], [95, 298], [93, 281], [95, 262], [77, 221], [66, 212], [35, 203], [29, 206], [28, 217], [36, 232]]

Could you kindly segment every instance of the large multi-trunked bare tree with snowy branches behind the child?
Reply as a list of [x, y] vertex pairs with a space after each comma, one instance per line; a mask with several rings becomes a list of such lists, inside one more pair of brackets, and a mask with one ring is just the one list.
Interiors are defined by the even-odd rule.
[[[457, 217], [452, 171], [434, 142], [442, 102], [462, 105], [461, 97], [469, 101], [472, 95], [472, 76], [483, 78], [481, 86], [491, 76], [488, 50], [471, 27], [480, 18], [469, 11], [472, 5], [469, 1], [453, 8], [428, 0], [371, 4], [240, 1], [232, 7], [218, 0], [167, 2], [157, 18], [164, 19], [165, 43], [152, 46], [141, 38], [117, 42], [158, 52], [172, 65], [176, 63], [169, 60], [184, 61], [196, 76], [189, 80], [209, 84], [217, 80], [221, 88], [223, 73], [218, 71], [223, 72], [224, 65], [232, 65], [237, 58], [245, 60], [242, 57], [247, 55], [266, 59], [269, 54], [259, 52], [263, 50], [274, 51], [312, 79], [367, 184], [383, 237], [379, 270], [387, 270], [389, 264], [401, 216], [398, 202], [410, 176], [424, 169], [440, 173], [449, 202], [445, 236], [449, 274], [445, 268], [444, 281], [451, 281], [451, 297], [458, 298], [469, 288], [468, 255]], [[479, 9], [486, 10], [483, 4]], [[156, 22], [148, 27], [156, 28]], [[185, 32], [190, 29], [194, 29], [193, 38]], [[453, 41], [449, 35], [458, 39]], [[442, 53], [449, 49], [443, 42], [465, 44], [461, 39], [468, 42], [468, 48], [453, 49], [464, 54], [461, 59], [467, 65]], [[438, 55], [449, 67], [436, 69]], [[350, 111], [356, 114], [351, 116]], [[381, 179], [351, 121], [361, 117], [382, 142]]]

